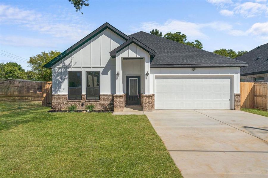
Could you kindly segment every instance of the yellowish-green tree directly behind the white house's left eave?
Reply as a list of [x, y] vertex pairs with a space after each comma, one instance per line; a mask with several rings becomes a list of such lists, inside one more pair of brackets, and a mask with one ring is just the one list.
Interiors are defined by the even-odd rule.
[[38, 80], [38, 81], [51, 81], [52, 80], [52, 70], [44, 68], [47, 62], [51, 61], [57, 55], [59, 55], [59, 51], [49, 51], [48, 53], [42, 52], [36, 56], [30, 57], [30, 60], [27, 62], [29, 67], [32, 69], [27, 71], [27, 76], [30, 77], [30, 80]]

